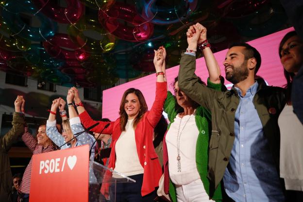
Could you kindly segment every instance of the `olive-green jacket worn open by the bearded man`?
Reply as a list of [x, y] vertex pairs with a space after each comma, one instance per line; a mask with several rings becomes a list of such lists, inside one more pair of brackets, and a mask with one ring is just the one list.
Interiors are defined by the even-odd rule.
[[[211, 111], [212, 134], [209, 143], [208, 178], [217, 187], [224, 175], [234, 145], [235, 112], [239, 104], [239, 96], [234, 87], [230, 91], [218, 92], [200, 85], [197, 82], [195, 69], [196, 57], [183, 54], [178, 77], [179, 88], [201, 106]], [[284, 89], [266, 86], [263, 79], [258, 79], [257, 82], [259, 87], [253, 97], [253, 104], [279, 171], [280, 130], [278, 117], [286, 103]]]

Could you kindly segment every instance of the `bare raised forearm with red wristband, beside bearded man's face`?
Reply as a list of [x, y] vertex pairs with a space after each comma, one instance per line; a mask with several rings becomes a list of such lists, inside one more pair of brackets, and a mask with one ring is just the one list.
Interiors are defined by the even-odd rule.
[[[219, 67], [219, 64], [210, 49], [209, 43], [207, 41], [206, 37], [206, 28], [201, 25], [200, 23], [196, 24], [197, 29], [199, 29], [200, 33], [200, 38], [198, 41], [198, 48], [202, 51], [206, 63], [206, 67], [209, 73], [209, 80], [212, 83], [219, 84], [220, 83], [220, 75], [221, 75], [221, 70]], [[190, 29], [189, 32], [194, 31], [194, 29]]]

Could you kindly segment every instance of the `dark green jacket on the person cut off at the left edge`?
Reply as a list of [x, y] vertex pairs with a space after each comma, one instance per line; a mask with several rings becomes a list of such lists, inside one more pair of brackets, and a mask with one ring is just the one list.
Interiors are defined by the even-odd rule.
[[20, 135], [24, 132], [24, 116], [14, 112], [13, 128], [0, 137], [0, 202], [10, 202], [10, 194], [13, 186], [13, 176], [8, 157], [8, 151]]

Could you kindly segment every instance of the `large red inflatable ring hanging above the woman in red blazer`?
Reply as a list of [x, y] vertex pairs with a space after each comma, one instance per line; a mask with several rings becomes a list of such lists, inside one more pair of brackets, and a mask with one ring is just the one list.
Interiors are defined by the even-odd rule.
[[[127, 26], [121, 21], [133, 26]], [[116, 2], [107, 10], [99, 10], [99, 21], [111, 34], [126, 41], [144, 41], [152, 36], [153, 24], [141, 18], [135, 7]]]

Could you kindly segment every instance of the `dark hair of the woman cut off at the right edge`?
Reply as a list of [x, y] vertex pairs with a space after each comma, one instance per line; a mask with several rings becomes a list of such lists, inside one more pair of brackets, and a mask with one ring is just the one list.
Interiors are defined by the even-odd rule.
[[[290, 38], [290, 37], [293, 37], [293, 36], [297, 36], [297, 33], [295, 31], [291, 31], [291, 32], [288, 32], [281, 40], [280, 42], [280, 45], [279, 45], [279, 56], [280, 58], [282, 57], [281, 55], [281, 51], [282, 51], [282, 47], [283, 45], [285, 44], [285, 42]], [[286, 89], [286, 102], [287, 104], [290, 104], [290, 101], [291, 101], [291, 86], [292, 86], [292, 79], [293, 77], [295, 76], [295, 73], [292, 73], [292, 72], [287, 72], [285, 69], [284, 69], [284, 76], [286, 78], [286, 85], [285, 85], [285, 89]]]

